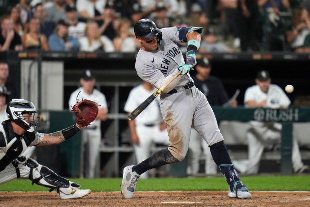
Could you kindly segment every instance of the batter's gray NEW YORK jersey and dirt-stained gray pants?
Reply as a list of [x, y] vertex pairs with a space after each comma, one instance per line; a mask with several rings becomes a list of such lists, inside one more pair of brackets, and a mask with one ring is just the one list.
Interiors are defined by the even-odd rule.
[[[184, 63], [183, 55], [177, 46], [177, 42], [181, 42], [179, 28], [163, 28], [161, 32], [163, 44], [158, 45], [158, 50], [152, 52], [140, 49], [135, 64], [139, 77], [152, 85], [163, 76], [172, 74], [178, 63]], [[160, 110], [169, 134], [168, 149], [179, 161], [183, 160], [187, 153], [191, 126], [209, 146], [223, 140], [205, 95], [195, 86], [190, 89], [182, 87], [190, 81], [190, 75], [184, 75], [175, 86], [176, 93], [160, 95]]]

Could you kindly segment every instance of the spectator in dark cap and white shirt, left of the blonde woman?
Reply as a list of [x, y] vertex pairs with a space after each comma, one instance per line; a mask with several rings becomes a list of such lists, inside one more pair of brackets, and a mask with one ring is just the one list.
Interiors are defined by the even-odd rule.
[[78, 21], [77, 9], [75, 6], [67, 5], [65, 10], [67, 22], [69, 24], [69, 36], [81, 39], [84, 37], [86, 24], [84, 22]]

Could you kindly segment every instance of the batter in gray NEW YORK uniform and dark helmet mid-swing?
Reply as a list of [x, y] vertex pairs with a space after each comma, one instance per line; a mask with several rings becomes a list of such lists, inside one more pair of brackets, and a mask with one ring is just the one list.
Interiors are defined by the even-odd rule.
[[[232, 165], [224, 139], [206, 96], [195, 86], [189, 75], [196, 65], [195, 52], [200, 46], [200, 27], [172, 27], [158, 29], [148, 19], [139, 20], [134, 26], [141, 44], [137, 54], [138, 76], [156, 88], [161, 88], [175, 74], [179, 75], [160, 95], [160, 109], [167, 124], [169, 147], [162, 149], [137, 165], [123, 170], [122, 194], [132, 198], [139, 176], [152, 168], [182, 161], [185, 158], [190, 131], [193, 126], [208, 143], [214, 162], [224, 174], [229, 197], [251, 198]], [[187, 42], [186, 61], [177, 45]]]

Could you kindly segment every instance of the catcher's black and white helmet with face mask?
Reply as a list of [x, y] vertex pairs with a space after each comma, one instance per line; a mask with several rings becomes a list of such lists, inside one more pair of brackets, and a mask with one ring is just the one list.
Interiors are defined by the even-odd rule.
[[10, 120], [26, 131], [36, 131], [40, 117], [36, 116], [39, 112], [32, 102], [25, 99], [12, 99], [7, 106], [6, 112]]

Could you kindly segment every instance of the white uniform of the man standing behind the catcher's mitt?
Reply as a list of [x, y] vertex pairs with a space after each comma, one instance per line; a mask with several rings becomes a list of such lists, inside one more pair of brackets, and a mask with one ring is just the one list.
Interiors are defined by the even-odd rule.
[[[81, 92], [79, 94], [79, 92]], [[79, 94], [79, 96], [78, 96]], [[99, 108], [105, 108], [108, 112], [106, 97], [99, 90], [94, 89], [92, 94], [87, 94], [84, 92], [83, 88], [80, 87], [74, 92], [72, 92], [69, 99], [69, 109], [72, 110], [72, 107], [77, 103], [78, 99], [88, 99], [95, 101]], [[85, 159], [85, 176], [94, 177], [96, 164], [99, 159], [100, 154], [100, 145], [101, 145], [101, 120], [95, 119], [90, 123], [90, 126], [87, 126], [82, 130], [82, 139], [83, 145], [86, 145], [86, 159]], [[82, 151], [84, 147], [82, 147]], [[83, 153], [82, 153], [83, 156]], [[84, 160], [84, 159], [82, 159]], [[82, 164], [83, 165], [83, 164]]]

